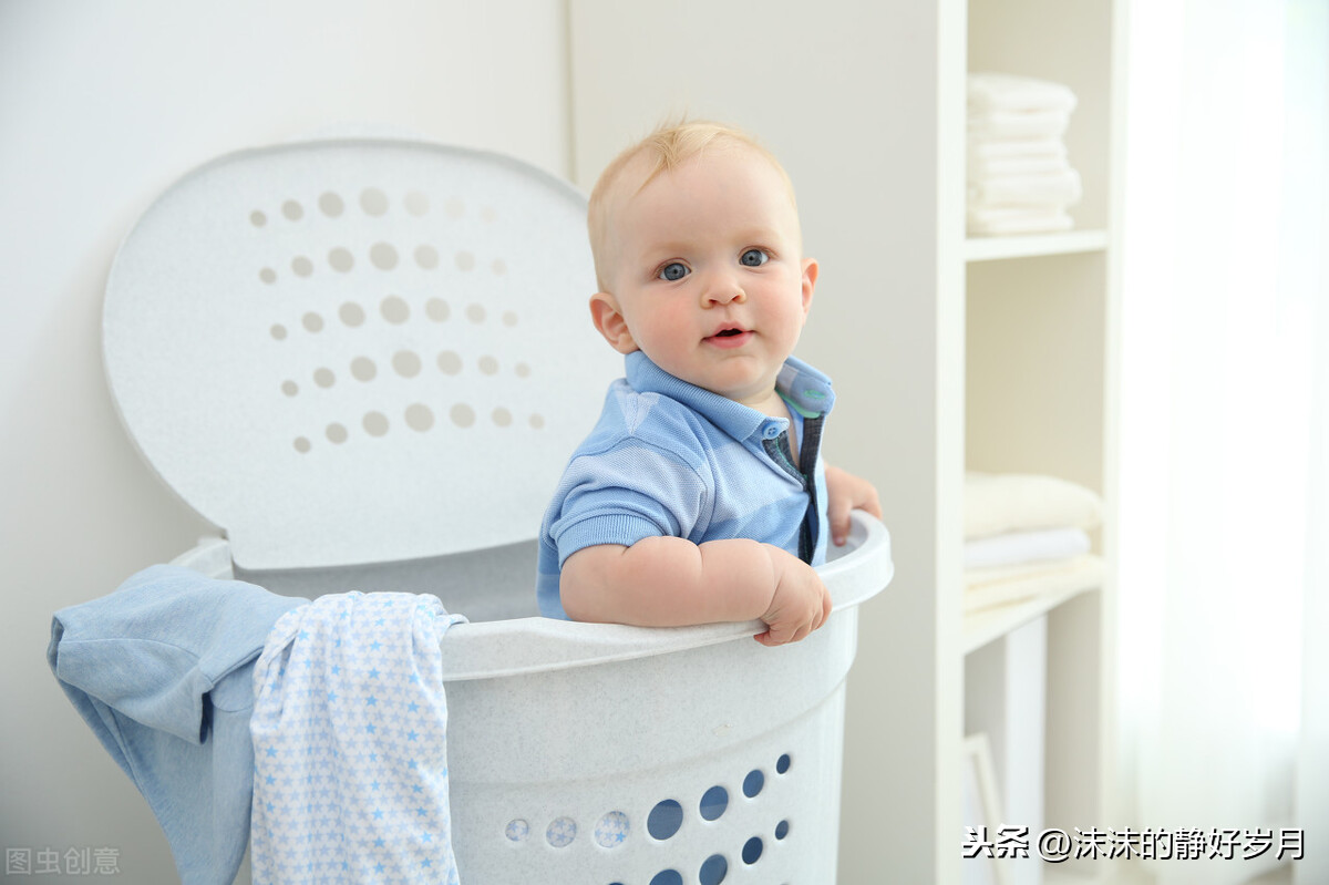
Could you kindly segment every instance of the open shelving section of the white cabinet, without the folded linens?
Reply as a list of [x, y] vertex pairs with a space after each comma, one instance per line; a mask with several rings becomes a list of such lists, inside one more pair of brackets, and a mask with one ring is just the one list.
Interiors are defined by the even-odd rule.
[[1108, 505], [1095, 533], [1107, 565], [1102, 586], [978, 613], [964, 631], [969, 654], [1047, 614], [1041, 824], [1074, 832], [1111, 825], [1115, 811], [1111, 514], [1124, 9], [1120, 0], [969, 0], [968, 15], [970, 72], [1063, 82], [1079, 98], [1066, 133], [1084, 186], [1071, 210], [1078, 230], [965, 243], [966, 466], [1059, 476]]

